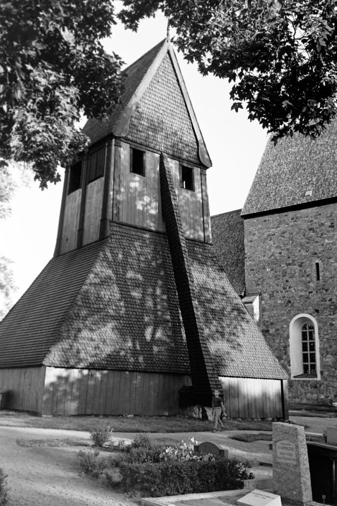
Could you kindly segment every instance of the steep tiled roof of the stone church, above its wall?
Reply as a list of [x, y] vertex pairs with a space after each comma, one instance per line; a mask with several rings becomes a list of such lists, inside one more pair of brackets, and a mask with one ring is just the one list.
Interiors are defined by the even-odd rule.
[[268, 141], [242, 214], [336, 197], [336, 166], [337, 120], [316, 140], [297, 134], [276, 147]]

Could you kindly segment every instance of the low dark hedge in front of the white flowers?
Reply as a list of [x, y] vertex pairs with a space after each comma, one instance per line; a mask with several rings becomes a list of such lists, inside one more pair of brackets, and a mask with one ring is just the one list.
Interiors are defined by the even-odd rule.
[[127, 490], [147, 495], [189, 494], [243, 488], [243, 480], [252, 478], [248, 462], [236, 459], [167, 460], [157, 463], [120, 462]]

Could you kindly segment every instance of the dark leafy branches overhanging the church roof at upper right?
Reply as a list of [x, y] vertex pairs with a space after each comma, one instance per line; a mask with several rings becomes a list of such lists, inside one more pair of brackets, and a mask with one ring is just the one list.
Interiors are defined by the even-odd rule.
[[175, 43], [203, 74], [233, 81], [232, 109], [247, 107], [274, 132], [317, 137], [336, 113], [336, 0], [124, 0], [134, 30], [160, 9]]

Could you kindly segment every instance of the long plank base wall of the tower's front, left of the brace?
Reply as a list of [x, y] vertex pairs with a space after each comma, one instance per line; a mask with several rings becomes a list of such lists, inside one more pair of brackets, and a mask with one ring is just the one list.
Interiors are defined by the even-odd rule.
[[184, 375], [47, 367], [43, 414], [174, 415], [190, 383]]

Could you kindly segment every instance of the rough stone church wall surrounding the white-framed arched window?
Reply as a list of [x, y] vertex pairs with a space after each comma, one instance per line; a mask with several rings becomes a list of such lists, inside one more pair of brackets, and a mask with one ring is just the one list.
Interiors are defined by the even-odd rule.
[[247, 294], [262, 293], [261, 329], [290, 377], [290, 323], [300, 314], [317, 322], [320, 379], [292, 379], [296, 403], [337, 400], [336, 209], [332, 203], [245, 219]]

